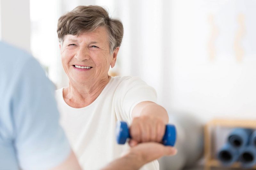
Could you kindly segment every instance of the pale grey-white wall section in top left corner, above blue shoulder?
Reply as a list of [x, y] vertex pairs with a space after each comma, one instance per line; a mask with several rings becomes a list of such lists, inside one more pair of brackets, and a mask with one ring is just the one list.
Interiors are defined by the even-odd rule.
[[29, 0], [0, 0], [1, 40], [30, 51]]

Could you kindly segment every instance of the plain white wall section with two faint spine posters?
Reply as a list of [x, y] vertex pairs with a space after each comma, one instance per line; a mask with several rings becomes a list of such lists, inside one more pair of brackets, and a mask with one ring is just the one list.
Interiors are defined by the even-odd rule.
[[256, 118], [255, 7], [252, 0], [172, 1], [172, 109], [205, 120]]

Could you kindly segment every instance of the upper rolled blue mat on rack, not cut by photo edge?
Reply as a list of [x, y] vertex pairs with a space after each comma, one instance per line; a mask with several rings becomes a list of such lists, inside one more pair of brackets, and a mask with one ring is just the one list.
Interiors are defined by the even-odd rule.
[[228, 135], [228, 143], [239, 149], [249, 144], [252, 129], [235, 128]]

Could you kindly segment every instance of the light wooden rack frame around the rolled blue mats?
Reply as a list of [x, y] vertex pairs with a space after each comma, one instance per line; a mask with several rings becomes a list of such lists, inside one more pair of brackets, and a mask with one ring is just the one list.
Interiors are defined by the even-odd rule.
[[[252, 120], [224, 120], [215, 119], [207, 123], [204, 127], [204, 158], [205, 158], [205, 170], [210, 170], [211, 167], [222, 167], [220, 162], [212, 157], [212, 135], [211, 128], [216, 126], [228, 127], [228, 128], [250, 128], [256, 129], [256, 121]], [[230, 168], [239, 168], [241, 166], [238, 162], [234, 163]], [[256, 169], [256, 166], [253, 167]]]

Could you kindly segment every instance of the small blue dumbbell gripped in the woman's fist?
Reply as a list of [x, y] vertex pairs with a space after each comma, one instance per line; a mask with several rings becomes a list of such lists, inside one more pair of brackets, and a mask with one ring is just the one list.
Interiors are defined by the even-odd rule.
[[[116, 141], [118, 144], [125, 144], [126, 139], [131, 138], [129, 128], [126, 122], [119, 121], [116, 126]], [[176, 128], [174, 125], [167, 124], [163, 137], [163, 144], [166, 146], [174, 146], [176, 141]]]

